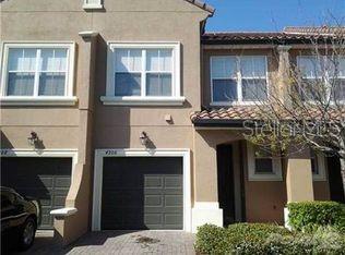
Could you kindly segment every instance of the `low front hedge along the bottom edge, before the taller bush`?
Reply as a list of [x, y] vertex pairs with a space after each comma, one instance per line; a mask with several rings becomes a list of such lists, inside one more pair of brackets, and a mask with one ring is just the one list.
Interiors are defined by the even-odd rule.
[[272, 224], [204, 224], [194, 246], [198, 254], [345, 254], [345, 238], [332, 227], [302, 233]]

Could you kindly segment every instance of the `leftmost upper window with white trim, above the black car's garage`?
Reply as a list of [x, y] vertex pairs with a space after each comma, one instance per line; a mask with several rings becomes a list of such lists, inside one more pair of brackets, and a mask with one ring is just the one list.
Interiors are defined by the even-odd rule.
[[4, 44], [1, 102], [73, 102], [74, 44]]

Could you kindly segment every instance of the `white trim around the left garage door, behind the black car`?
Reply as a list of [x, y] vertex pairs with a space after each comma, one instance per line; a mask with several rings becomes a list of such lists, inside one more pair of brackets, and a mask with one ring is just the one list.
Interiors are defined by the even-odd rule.
[[0, 150], [1, 157], [33, 157], [33, 158], [72, 158], [71, 183], [78, 163], [78, 149], [17, 149]]

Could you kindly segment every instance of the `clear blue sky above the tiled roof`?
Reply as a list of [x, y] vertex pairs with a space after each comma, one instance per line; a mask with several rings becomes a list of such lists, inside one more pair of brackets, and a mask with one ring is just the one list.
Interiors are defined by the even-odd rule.
[[204, 0], [216, 9], [207, 32], [278, 32], [284, 26], [345, 24], [345, 0]]

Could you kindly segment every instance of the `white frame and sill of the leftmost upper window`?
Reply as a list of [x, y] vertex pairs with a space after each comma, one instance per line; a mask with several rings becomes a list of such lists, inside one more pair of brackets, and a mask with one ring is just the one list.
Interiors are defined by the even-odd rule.
[[[63, 96], [39, 96], [39, 82], [36, 81], [38, 69], [35, 70], [35, 84], [33, 96], [9, 96], [8, 94], [8, 76], [9, 76], [9, 51], [10, 49], [67, 49], [67, 71]], [[37, 56], [36, 56], [37, 58]], [[76, 97], [73, 96], [74, 84], [74, 61], [75, 61], [75, 42], [11, 42], [4, 41], [1, 45], [1, 87], [0, 87], [0, 102], [1, 105], [74, 105]]]

